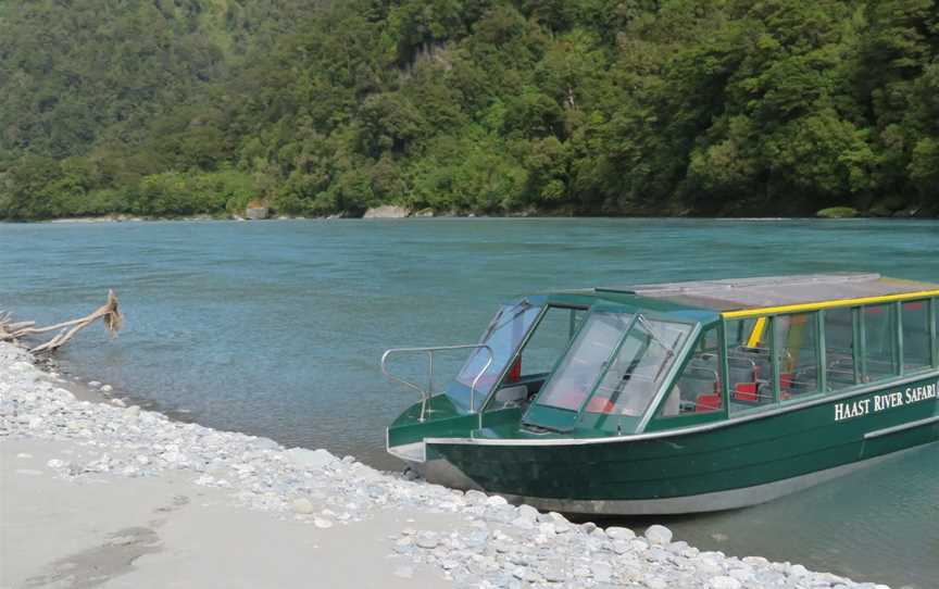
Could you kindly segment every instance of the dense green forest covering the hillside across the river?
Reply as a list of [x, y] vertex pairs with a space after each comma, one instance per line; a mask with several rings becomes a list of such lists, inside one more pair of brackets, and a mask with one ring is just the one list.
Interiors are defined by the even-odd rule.
[[939, 212], [939, 1], [0, 0], [0, 218]]

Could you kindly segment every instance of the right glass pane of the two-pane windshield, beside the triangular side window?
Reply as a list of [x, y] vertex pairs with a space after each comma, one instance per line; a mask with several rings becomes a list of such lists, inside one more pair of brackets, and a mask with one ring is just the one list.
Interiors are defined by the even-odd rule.
[[587, 404], [591, 413], [640, 416], [662, 387], [691, 326], [642, 315]]

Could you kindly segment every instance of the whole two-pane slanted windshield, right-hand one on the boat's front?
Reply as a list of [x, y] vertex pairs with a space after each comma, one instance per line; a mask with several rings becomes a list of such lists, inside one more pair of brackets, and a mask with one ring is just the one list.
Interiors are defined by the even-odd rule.
[[[643, 315], [631, 319], [631, 315], [623, 313], [591, 314], [546, 384], [538, 404], [568, 411], [585, 408], [590, 413], [642, 415], [687, 342], [691, 326]], [[633, 327], [627, 333], [630, 323]]]

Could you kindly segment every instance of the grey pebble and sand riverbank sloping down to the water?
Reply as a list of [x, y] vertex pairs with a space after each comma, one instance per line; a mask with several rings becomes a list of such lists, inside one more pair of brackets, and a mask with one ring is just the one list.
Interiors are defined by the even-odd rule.
[[[276, 587], [311, 566], [350, 587], [884, 587], [703, 552], [663, 526], [637, 535], [573, 524], [352, 456], [118, 405], [77, 399], [27, 352], [0, 343], [0, 588]], [[149, 525], [108, 527], [151, 503], [159, 517]], [[50, 516], [62, 505], [80, 516]], [[223, 569], [209, 571], [213, 554]]]

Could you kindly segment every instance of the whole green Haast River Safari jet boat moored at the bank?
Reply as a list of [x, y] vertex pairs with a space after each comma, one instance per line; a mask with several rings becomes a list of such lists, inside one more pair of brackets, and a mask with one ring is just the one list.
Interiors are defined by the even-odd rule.
[[[876, 274], [525, 297], [479, 343], [385, 353], [422, 396], [387, 449], [564, 513], [753, 505], [939, 440], [937, 315], [939, 285]], [[468, 359], [434, 392], [453, 351]], [[390, 372], [403, 354], [426, 354], [427, 385]]]

